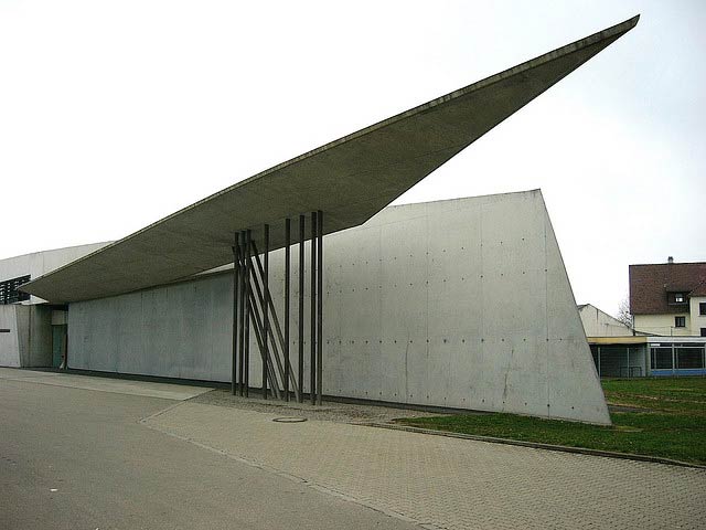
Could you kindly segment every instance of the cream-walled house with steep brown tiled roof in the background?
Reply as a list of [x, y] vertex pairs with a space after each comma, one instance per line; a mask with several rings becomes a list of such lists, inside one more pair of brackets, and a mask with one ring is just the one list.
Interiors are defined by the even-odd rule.
[[630, 265], [630, 311], [639, 331], [706, 337], [706, 263]]

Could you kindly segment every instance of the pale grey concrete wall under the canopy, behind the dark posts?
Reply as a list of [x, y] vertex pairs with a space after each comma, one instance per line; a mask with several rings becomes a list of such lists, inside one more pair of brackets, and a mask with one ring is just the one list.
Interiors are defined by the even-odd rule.
[[[539, 191], [387, 208], [327, 236], [324, 263], [324, 393], [610, 422]], [[72, 304], [69, 367], [228, 381], [231, 282]]]

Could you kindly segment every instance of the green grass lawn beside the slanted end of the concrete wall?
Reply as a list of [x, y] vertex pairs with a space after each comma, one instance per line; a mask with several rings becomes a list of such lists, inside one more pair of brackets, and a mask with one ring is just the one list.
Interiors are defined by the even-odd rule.
[[706, 378], [603, 380], [612, 427], [514, 414], [456, 414], [399, 423], [453, 433], [661, 456], [706, 464]]

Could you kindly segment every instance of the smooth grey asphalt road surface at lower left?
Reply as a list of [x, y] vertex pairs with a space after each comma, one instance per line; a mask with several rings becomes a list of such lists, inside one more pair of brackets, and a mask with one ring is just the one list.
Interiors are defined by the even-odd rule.
[[138, 423], [174, 403], [0, 379], [0, 529], [418, 528]]

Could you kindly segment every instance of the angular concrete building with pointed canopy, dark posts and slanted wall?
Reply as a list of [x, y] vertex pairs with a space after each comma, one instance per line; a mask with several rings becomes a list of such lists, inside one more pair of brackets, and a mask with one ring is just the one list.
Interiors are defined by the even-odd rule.
[[608, 424], [538, 191], [385, 206], [637, 22], [280, 163], [20, 289], [67, 306], [72, 368]]

